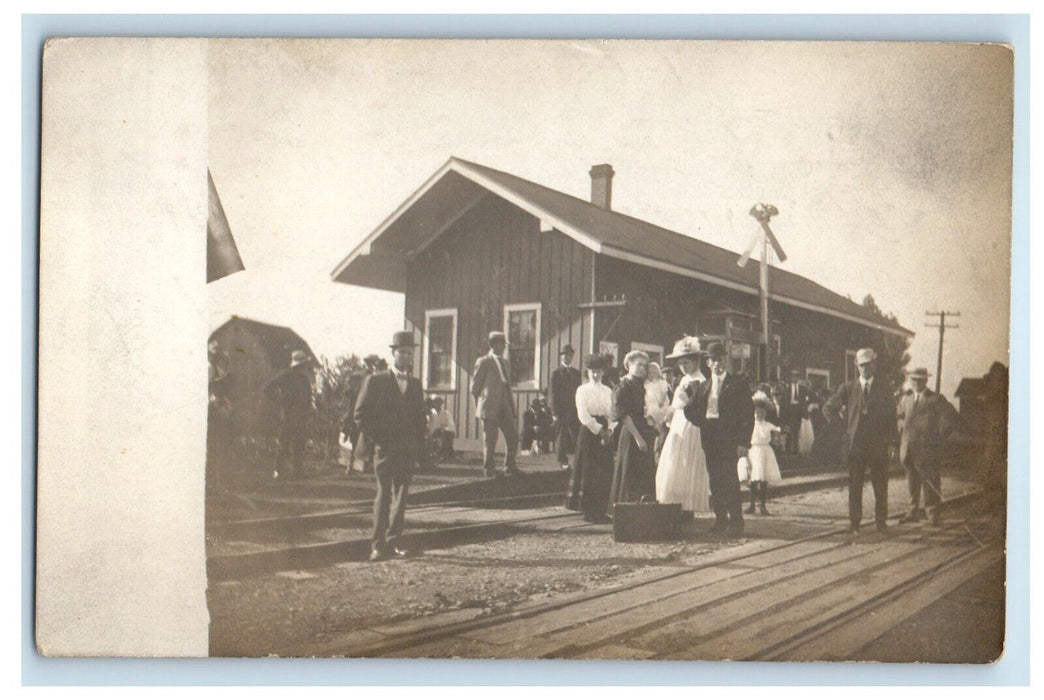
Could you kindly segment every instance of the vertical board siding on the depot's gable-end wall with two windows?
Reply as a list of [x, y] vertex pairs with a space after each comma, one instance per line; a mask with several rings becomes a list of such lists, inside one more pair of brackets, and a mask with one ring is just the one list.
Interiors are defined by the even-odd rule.
[[[456, 387], [427, 394], [446, 399], [458, 447], [480, 444], [468, 390], [476, 359], [489, 350], [487, 335], [503, 329], [505, 305], [541, 304], [538, 387], [547, 387], [562, 346], [571, 344], [583, 354], [587, 326], [578, 304], [589, 301], [592, 255], [559, 231], [541, 232], [538, 218], [490, 194], [408, 263], [406, 328], [419, 343], [426, 310], [457, 309]], [[424, 378], [426, 358], [419, 352], [413, 361]], [[538, 394], [539, 389], [515, 392], [520, 429], [522, 414]]]

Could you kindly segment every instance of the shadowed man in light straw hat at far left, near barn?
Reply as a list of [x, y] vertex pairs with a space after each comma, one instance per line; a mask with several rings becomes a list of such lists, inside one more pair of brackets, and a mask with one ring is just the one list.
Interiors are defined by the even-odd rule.
[[304, 350], [294, 350], [290, 353], [290, 369], [265, 384], [264, 394], [279, 404], [282, 418], [272, 474], [276, 479], [304, 475], [308, 419], [314, 410], [313, 379], [312, 359]]

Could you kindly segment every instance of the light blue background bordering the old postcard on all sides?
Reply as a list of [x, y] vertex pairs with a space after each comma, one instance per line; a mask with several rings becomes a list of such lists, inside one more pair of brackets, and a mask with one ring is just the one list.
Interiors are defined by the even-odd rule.
[[[1015, 47], [1007, 637], [992, 666], [620, 661], [54, 659], [33, 645], [40, 59], [54, 36], [781, 39], [997, 42]], [[22, 21], [22, 681], [28, 685], [1029, 682], [1029, 18], [1011, 16], [24, 16]]]

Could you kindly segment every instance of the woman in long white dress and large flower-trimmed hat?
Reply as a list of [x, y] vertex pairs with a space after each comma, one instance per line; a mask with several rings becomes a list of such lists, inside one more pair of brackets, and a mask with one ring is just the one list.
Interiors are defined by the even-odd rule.
[[710, 477], [699, 428], [685, 417], [684, 409], [695, 399], [699, 383], [707, 377], [699, 371], [699, 341], [687, 335], [674, 344], [667, 359], [677, 359], [683, 376], [668, 409], [670, 425], [656, 471], [656, 499], [682, 504], [682, 510], [703, 513], [710, 510]]

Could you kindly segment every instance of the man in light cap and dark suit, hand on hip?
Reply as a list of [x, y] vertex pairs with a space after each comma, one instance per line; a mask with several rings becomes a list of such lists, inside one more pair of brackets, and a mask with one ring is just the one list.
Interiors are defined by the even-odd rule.
[[859, 532], [862, 520], [862, 482], [870, 469], [874, 487], [874, 520], [886, 532], [888, 516], [888, 447], [896, 444], [896, 402], [884, 377], [875, 376], [877, 354], [872, 348], [856, 353], [859, 376], [837, 388], [823, 406], [830, 422], [841, 421], [848, 437], [849, 532]]

